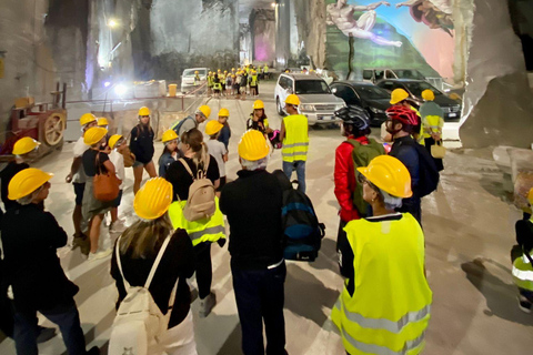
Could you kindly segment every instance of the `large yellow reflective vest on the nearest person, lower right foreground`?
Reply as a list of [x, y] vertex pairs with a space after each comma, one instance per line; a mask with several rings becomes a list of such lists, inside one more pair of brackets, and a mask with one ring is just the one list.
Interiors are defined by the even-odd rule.
[[344, 348], [351, 355], [419, 354], [432, 302], [420, 224], [404, 213], [396, 221], [354, 220], [344, 231], [355, 287], [353, 295], [343, 287], [331, 313]]

